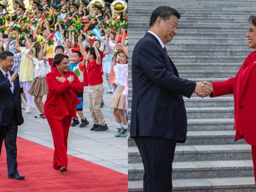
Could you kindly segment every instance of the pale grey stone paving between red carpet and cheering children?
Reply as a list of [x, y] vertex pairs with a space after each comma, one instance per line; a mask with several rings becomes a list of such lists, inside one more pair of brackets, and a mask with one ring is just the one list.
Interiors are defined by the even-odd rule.
[[[106, 83], [104, 83], [104, 87], [105, 93], [103, 99], [105, 107], [102, 111], [109, 130], [103, 132], [90, 131], [93, 123], [88, 109], [87, 87], [84, 87], [83, 112], [90, 124], [86, 128], [79, 128], [78, 126], [75, 128], [70, 127], [67, 153], [127, 174], [128, 140], [127, 138], [114, 137], [116, 133], [116, 121], [114, 120], [112, 109], [109, 106], [113, 94], [106, 93], [108, 90]], [[43, 100], [45, 99], [46, 96], [44, 96]], [[48, 122], [46, 119], [35, 119], [34, 116], [37, 114], [39, 113], [36, 107], [30, 114], [25, 114], [23, 110], [24, 123], [18, 127], [18, 137], [49, 148], [54, 148]]]

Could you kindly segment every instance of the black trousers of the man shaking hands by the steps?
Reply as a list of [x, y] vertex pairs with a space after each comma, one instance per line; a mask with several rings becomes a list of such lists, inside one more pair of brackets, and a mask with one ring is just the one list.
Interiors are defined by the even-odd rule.
[[172, 192], [172, 161], [176, 141], [134, 137], [143, 160], [143, 192]]

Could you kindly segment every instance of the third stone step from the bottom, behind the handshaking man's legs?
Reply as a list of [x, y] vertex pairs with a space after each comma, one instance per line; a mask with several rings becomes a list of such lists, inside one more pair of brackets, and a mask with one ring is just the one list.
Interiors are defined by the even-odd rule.
[[[128, 157], [128, 163], [142, 163], [137, 146], [128, 148]], [[241, 159], [252, 159], [250, 145], [177, 145], [174, 156], [174, 162]]]

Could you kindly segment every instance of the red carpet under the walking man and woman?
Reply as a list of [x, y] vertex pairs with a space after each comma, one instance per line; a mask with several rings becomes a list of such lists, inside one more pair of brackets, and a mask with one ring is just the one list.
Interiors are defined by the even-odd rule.
[[64, 175], [52, 168], [53, 150], [17, 138], [18, 171], [24, 180], [8, 179], [6, 151], [0, 157], [0, 192], [127, 192], [128, 176], [68, 155]]

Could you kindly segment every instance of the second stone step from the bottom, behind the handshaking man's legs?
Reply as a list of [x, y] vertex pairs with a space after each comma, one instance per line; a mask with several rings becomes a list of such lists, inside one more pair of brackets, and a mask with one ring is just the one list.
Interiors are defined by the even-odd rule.
[[[142, 180], [142, 163], [128, 164], [128, 179]], [[172, 178], [189, 179], [205, 177], [253, 177], [252, 160], [213, 160], [173, 162]]]

